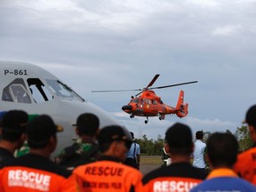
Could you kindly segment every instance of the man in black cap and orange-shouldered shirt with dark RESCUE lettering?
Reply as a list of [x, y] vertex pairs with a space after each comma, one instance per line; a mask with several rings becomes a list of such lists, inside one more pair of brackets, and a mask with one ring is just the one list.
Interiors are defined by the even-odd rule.
[[124, 162], [132, 136], [124, 127], [111, 125], [98, 135], [102, 156], [97, 162], [84, 164], [73, 171], [79, 191], [138, 191], [142, 174]]

